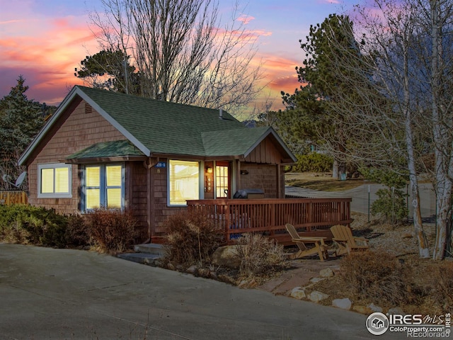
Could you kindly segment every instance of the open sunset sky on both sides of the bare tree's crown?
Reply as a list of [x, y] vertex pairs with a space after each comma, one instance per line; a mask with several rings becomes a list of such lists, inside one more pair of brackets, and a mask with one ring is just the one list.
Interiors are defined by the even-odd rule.
[[[228, 16], [234, 1], [220, 2]], [[240, 17], [246, 29], [258, 36], [257, 62], [264, 62], [265, 98], [273, 109], [283, 108], [280, 91], [299, 87], [294, 67], [302, 64], [310, 25], [331, 13], [350, 10], [357, 0], [249, 0]], [[86, 55], [99, 52], [89, 28], [88, 13], [101, 11], [101, 0], [0, 0], [0, 98], [23, 75], [29, 99], [57, 106], [72, 86], [82, 84], [74, 68]]]

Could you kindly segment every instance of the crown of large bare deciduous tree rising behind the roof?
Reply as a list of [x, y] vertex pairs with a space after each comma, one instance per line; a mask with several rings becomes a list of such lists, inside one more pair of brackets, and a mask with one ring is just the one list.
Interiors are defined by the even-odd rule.
[[103, 50], [132, 55], [142, 96], [222, 107], [232, 113], [253, 101], [263, 78], [256, 35], [237, 21], [221, 27], [214, 0], [103, 0], [91, 13]]

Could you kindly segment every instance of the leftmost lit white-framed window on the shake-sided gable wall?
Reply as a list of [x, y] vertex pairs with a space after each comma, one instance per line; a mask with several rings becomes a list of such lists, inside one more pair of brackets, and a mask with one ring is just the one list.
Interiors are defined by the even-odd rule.
[[71, 198], [71, 179], [71, 164], [38, 164], [38, 198]]

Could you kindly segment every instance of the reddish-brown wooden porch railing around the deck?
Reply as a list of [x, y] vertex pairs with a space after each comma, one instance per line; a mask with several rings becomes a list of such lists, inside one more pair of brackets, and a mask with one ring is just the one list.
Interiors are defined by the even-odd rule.
[[261, 232], [282, 244], [291, 244], [285, 224], [307, 236], [331, 238], [333, 225], [350, 225], [351, 198], [188, 200], [188, 210], [201, 210], [224, 229], [227, 244], [244, 232]]

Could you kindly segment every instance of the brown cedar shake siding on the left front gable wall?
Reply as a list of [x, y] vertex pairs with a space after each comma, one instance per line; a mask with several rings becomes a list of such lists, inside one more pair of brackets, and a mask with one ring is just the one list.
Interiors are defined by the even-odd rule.
[[[125, 136], [108, 123], [85, 101], [71, 105], [64, 117], [54, 125], [41, 143], [41, 149], [35, 151], [33, 162], [28, 166], [29, 188], [28, 202], [45, 208], [54, 208], [63, 213], [79, 210], [80, 181], [79, 166], [72, 165], [72, 198], [38, 198], [38, 164], [59, 163], [74, 152], [85, 149], [98, 142], [124, 140]], [[127, 188], [125, 188], [127, 192]]]

